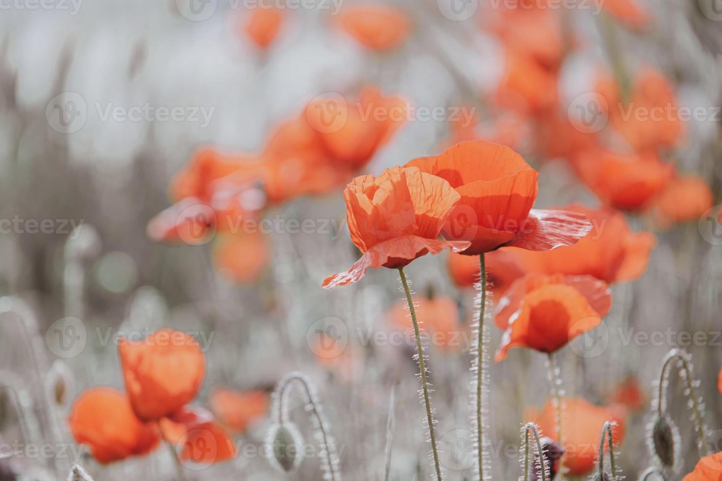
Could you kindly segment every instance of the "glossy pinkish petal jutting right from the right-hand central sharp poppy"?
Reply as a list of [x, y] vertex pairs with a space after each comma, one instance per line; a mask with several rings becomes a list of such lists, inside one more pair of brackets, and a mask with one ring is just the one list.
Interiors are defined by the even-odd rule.
[[521, 234], [505, 245], [526, 250], [553, 250], [576, 244], [591, 228], [591, 222], [583, 213], [531, 209]]

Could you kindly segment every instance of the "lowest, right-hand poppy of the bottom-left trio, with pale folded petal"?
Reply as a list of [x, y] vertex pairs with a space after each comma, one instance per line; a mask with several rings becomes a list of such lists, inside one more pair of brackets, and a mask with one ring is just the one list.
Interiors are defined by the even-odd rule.
[[202, 407], [182, 407], [160, 420], [165, 441], [180, 448], [178, 459], [213, 464], [236, 456], [233, 438]]

